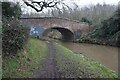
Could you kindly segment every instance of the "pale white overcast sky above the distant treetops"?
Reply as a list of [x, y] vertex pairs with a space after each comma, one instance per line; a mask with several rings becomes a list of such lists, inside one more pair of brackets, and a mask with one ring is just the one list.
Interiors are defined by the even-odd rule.
[[[8, 1], [8, 0], [2, 0], [2, 1]], [[21, 2], [22, 0], [9, 0], [9, 1], [19, 1]], [[34, 1], [43, 1], [43, 0], [34, 0]], [[47, 1], [47, 0], [46, 0]], [[89, 5], [95, 5], [95, 4], [111, 4], [111, 5], [117, 5], [120, 0], [64, 0], [64, 2], [72, 6], [72, 2], [75, 2], [79, 7], [84, 7], [84, 6], [89, 6]], [[27, 11], [30, 9], [27, 9]], [[34, 10], [33, 10], [34, 11]]]

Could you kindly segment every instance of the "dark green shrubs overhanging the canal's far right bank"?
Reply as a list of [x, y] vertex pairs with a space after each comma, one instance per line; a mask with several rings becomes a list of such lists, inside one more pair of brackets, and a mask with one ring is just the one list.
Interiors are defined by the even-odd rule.
[[120, 46], [120, 7], [113, 16], [95, 27], [90, 36], [100, 40], [107, 40], [109, 45]]

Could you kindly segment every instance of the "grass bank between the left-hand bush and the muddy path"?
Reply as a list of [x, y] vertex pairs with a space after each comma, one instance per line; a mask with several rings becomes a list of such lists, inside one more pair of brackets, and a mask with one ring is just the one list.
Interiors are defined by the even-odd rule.
[[27, 47], [17, 56], [3, 59], [3, 78], [32, 77], [32, 71], [42, 67], [47, 53], [43, 41], [29, 39]]

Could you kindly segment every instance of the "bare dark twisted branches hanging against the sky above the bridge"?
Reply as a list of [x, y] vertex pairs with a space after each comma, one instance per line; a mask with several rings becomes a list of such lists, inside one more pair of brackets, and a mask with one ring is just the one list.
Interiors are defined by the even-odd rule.
[[27, 6], [30, 6], [31, 8], [35, 9], [37, 12], [41, 12], [44, 8], [48, 8], [48, 7], [55, 7], [59, 9], [57, 7], [57, 4], [65, 5], [65, 3], [63, 3], [64, 0], [47, 0], [47, 1], [46, 0], [41, 0], [41, 1], [23, 0], [23, 1]]

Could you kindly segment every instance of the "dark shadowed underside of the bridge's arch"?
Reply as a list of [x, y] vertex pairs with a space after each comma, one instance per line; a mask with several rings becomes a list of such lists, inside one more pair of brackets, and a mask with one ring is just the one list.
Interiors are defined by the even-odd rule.
[[61, 33], [61, 35], [62, 35], [62, 40], [63, 41], [71, 41], [71, 40], [73, 40], [74, 33], [72, 31], [70, 31], [69, 29], [63, 28], [63, 27], [47, 28], [47, 29], [44, 30], [43, 36], [45, 36], [46, 33], [49, 33], [51, 29], [59, 31]]

